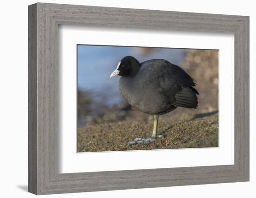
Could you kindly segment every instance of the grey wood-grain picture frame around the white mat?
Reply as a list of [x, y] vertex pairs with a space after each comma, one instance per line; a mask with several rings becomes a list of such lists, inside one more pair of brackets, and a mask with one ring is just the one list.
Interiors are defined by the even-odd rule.
[[[58, 172], [58, 25], [235, 35], [235, 164]], [[37, 3], [28, 6], [28, 191], [90, 192], [249, 181], [249, 17]]]

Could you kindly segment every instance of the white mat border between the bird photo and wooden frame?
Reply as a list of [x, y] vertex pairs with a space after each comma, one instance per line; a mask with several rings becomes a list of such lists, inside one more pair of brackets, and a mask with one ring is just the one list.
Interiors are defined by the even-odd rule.
[[[233, 34], [61, 26], [59, 35], [61, 173], [234, 164]], [[219, 49], [219, 148], [76, 153], [76, 44]]]

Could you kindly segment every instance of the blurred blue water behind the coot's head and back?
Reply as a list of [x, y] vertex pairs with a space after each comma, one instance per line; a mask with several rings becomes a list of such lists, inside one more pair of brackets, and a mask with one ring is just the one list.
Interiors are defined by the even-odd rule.
[[139, 62], [161, 58], [173, 64], [180, 64], [185, 50], [154, 48], [151, 52], [143, 53], [141, 48], [135, 47], [78, 45], [78, 89], [92, 92], [96, 101], [103, 100], [108, 105], [123, 101], [118, 88], [120, 77], [109, 76], [118, 62], [128, 55], [135, 57]]

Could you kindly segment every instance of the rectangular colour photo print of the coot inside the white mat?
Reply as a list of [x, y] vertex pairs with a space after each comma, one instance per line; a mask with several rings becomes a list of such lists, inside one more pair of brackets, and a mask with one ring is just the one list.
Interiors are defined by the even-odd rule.
[[218, 147], [218, 61], [218, 50], [77, 45], [77, 152]]

